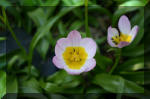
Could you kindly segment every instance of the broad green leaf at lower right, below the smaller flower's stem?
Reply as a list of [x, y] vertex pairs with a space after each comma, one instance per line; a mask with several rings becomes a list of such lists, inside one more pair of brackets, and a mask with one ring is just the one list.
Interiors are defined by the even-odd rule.
[[113, 93], [144, 93], [144, 88], [120, 76], [98, 74], [93, 83]]

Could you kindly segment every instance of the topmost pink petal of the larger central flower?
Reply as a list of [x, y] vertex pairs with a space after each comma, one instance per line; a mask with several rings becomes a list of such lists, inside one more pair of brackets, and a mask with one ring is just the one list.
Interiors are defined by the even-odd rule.
[[68, 34], [67, 38], [70, 39], [70, 43], [72, 44], [72, 46], [79, 46], [81, 41], [81, 35], [78, 31], [76, 30], [71, 31]]

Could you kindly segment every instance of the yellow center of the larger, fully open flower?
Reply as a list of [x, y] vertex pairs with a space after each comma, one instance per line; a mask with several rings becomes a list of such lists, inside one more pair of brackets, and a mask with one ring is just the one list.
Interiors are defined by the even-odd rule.
[[83, 47], [67, 47], [63, 53], [65, 63], [70, 69], [80, 69], [88, 54]]

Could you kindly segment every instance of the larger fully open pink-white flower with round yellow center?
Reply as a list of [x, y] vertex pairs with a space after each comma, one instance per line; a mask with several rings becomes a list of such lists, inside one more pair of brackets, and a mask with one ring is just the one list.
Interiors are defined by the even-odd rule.
[[96, 43], [91, 38], [81, 38], [78, 31], [71, 31], [67, 38], [61, 38], [55, 46], [53, 63], [69, 74], [77, 75], [92, 70], [96, 61]]

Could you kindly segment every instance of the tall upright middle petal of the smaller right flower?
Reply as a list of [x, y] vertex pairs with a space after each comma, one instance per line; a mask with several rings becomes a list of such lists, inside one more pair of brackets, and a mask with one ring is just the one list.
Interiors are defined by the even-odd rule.
[[121, 33], [129, 34], [131, 31], [131, 24], [127, 16], [123, 15], [119, 19], [118, 27]]

